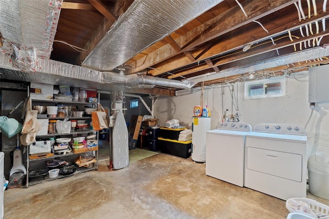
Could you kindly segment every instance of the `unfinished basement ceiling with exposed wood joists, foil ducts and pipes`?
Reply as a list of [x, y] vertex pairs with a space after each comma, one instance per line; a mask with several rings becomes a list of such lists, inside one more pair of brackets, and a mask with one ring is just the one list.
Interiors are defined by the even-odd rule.
[[[48, 7], [0, 0], [3, 52], [18, 56], [24, 51], [39, 64], [24, 69], [24, 59], [9, 72], [2, 65], [2, 78], [29, 80], [22, 75], [33, 67], [38, 74], [61, 70], [57, 62], [56, 68], [40, 66], [41, 58], [71, 64], [66, 73], [77, 65], [74, 69], [84, 73], [68, 75], [82, 84], [88, 80], [107, 90], [121, 84], [130, 92], [174, 95], [193, 85], [249, 80], [251, 73], [255, 78], [291, 74], [328, 62], [325, 0], [40, 1]], [[8, 8], [11, 16], [2, 16]], [[24, 20], [34, 16], [44, 19], [26, 28]], [[14, 20], [19, 25], [10, 25]], [[20, 52], [15, 53], [17, 47]], [[122, 70], [119, 74], [122, 68], [125, 76]], [[63, 79], [56, 83], [65, 83], [64, 73], [58, 76]]]

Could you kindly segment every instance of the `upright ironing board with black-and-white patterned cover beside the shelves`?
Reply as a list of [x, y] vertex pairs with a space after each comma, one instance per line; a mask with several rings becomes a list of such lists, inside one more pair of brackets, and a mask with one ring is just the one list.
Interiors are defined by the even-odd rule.
[[117, 112], [112, 134], [113, 169], [118, 170], [129, 165], [128, 130], [122, 112]]

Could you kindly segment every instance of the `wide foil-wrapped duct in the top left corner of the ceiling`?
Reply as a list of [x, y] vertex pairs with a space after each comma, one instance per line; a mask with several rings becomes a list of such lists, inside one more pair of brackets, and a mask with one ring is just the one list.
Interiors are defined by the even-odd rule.
[[16, 44], [49, 59], [61, 4], [62, 0], [0, 0], [1, 49], [12, 54], [12, 44]]

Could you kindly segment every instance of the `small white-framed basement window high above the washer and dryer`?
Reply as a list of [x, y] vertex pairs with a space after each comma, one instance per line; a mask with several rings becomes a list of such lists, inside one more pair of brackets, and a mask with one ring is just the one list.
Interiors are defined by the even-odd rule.
[[286, 78], [245, 82], [245, 99], [281, 97], [285, 95]]

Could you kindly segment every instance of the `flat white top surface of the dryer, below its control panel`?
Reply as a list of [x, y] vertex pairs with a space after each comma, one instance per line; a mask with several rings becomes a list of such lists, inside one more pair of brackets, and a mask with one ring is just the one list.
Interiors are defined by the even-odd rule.
[[306, 135], [288, 135], [288, 134], [275, 134], [275, 133], [264, 133], [264, 132], [251, 132], [246, 134], [246, 138], [260, 138], [268, 140], [285, 140], [290, 142], [302, 142], [305, 143], [307, 140]]

